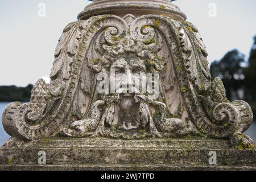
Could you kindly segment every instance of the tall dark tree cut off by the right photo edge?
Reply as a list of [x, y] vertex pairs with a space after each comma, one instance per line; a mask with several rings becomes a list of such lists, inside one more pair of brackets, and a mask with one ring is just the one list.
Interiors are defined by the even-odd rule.
[[[256, 36], [249, 57], [249, 67], [245, 68], [246, 100], [256, 102]], [[255, 103], [256, 104], [256, 103]]]

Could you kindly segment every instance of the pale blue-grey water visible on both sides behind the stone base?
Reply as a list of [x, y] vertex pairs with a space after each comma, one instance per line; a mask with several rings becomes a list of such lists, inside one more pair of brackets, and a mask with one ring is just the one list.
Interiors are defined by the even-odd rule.
[[[3, 142], [8, 139], [10, 136], [5, 133], [5, 130], [3, 130], [2, 126], [2, 112], [3, 109], [5, 109], [5, 106], [9, 104], [8, 102], [0, 102], [0, 146], [2, 146]], [[255, 142], [256, 142], [256, 122], [253, 122], [253, 125], [251, 125], [250, 129], [246, 131], [246, 134], [249, 135]]]

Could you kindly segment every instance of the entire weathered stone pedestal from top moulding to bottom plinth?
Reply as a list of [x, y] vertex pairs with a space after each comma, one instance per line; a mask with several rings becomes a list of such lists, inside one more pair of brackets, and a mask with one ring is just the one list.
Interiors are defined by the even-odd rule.
[[[35, 165], [34, 152], [40, 147], [55, 165], [46, 169], [72, 169], [75, 163], [89, 165], [81, 169], [112, 163], [113, 169], [131, 163], [179, 169], [192, 162], [192, 169], [207, 169], [212, 148], [222, 157], [220, 166], [209, 169], [229, 168], [225, 164], [254, 168], [254, 142], [243, 134], [253, 121], [251, 108], [245, 101], [228, 101], [221, 79], [212, 81], [203, 39], [185, 19], [168, 0], [98, 0], [85, 7], [79, 20], [64, 28], [50, 84], [39, 79], [29, 103], [14, 102], [3, 111], [6, 132], [31, 142], [13, 139], [14, 146], [3, 146], [2, 168], [10, 168], [5, 164], [11, 157], [16, 167], [33, 168], [27, 163]], [[174, 144], [173, 138], [191, 136], [210, 139], [181, 139], [174, 147], [166, 140], [172, 138]], [[101, 137], [97, 146], [95, 137]], [[213, 138], [229, 138], [236, 149]], [[213, 145], [204, 148], [202, 142]]]

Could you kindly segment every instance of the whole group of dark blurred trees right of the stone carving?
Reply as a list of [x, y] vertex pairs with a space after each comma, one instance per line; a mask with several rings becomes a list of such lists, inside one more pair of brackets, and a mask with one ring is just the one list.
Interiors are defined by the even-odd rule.
[[249, 59], [234, 49], [226, 53], [221, 60], [210, 65], [212, 78], [220, 77], [230, 101], [245, 100], [256, 115], [256, 36], [251, 47]]

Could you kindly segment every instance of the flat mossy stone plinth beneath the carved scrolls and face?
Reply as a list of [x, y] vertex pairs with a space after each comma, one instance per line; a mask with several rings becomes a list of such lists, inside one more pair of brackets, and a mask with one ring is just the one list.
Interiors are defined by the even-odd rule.
[[[40, 166], [39, 151], [46, 152]], [[217, 165], [209, 165], [209, 152]], [[256, 151], [236, 150], [228, 140], [11, 138], [0, 149], [0, 170], [256, 170]]]

